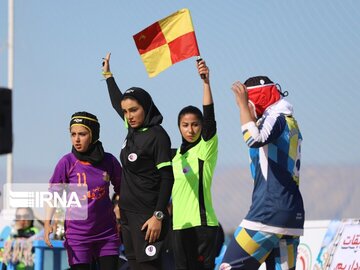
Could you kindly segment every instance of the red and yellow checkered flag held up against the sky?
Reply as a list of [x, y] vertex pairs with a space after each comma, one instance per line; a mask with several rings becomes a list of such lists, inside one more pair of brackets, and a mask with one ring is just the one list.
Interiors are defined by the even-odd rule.
[[180, 9], [134, 36], [149, 77], [171, 65], [200, 55], [188, 9]]

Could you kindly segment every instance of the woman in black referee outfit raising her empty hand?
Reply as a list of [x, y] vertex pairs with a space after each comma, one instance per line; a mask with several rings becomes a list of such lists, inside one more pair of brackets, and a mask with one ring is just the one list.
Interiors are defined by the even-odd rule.
[[158, 270], [168, 231], [166, 206], [174, 182], [170, 138], [149, 93], [138, 87], [122, 93], [110, 72], [110, 53], [103, 60], [112, 106], [128, 128], [120, 152], [119, 204], [125, 255], [131, 269]]

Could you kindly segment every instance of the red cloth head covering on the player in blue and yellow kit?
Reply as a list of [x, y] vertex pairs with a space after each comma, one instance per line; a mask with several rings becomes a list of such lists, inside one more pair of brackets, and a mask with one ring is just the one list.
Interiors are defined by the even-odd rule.
[[280, 99], [280, 93], [274, 83], [247, 87], [249, 100], [255, 105], [256, 116], [263, 115], [267, 107]]

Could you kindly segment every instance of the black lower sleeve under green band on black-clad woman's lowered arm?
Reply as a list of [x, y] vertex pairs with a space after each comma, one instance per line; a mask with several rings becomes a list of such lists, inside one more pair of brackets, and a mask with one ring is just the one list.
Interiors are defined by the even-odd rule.
[[161, 183], [159, 198], [155, 210], [165, 211], [171, 196], [172, 186], [174, 184], [174, 175], [172, 166], [162, 167], [159, 170]]

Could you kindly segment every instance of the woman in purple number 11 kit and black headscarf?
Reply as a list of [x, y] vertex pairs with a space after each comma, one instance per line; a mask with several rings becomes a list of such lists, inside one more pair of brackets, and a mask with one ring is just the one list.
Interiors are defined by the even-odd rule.
[[[90, 269], [96, 261], [98, 269], [117, 269], [119, 232], [109, 196], [110, 182], [120, 193], [122, 168], [110, 153], [104, 152], [99, 141], [100, 124], [95, 115], [77, 112], [70, 121], [71, 153], [63, 156], [50, 179], [50, 190], [57, 184], [87, 186], [81, 200], [87, 200], [86, 218], [65, 218], [65, 242], [71, 269]], [[49, 234], [54, 211], [48, 213], [44, 224], [45, 242], [52, 247]]]

